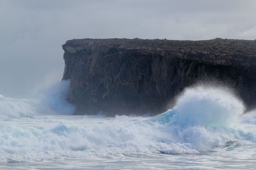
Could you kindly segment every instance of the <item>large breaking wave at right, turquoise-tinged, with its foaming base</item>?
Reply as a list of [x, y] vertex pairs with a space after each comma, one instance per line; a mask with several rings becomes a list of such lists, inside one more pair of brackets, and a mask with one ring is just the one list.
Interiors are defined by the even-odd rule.
[[162, 124], [162, 131], [172, 136], [165, 143], [182, 143], [196, 152], [205, 152], [234, 141], [256, 142], [254, 126], [246, 125], [243, 112], [243, 103], [232, 92], [195, 87], [187, 89], [172, 110], [151, 121]]

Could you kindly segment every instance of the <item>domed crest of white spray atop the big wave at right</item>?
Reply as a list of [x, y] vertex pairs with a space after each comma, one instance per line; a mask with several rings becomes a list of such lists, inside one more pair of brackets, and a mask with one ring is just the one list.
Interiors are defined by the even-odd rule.
[[244, 111], [243, 103], [231, 92], [221, 88], [198, 86], [186, 89], [176, 106], [152, 120], [171, 122], [180, 127], [226, 127], [236, 122]]

